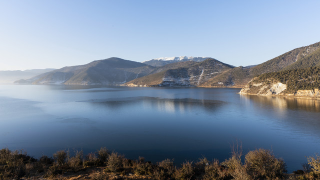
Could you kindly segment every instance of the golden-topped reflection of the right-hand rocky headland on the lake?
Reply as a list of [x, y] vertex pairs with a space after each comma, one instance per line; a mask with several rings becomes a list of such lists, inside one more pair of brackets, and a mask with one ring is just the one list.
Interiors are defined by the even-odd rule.
[[299, 136], [320, 137], [320, 100], [262, 95], [240, 95], [240, 98], [246, 104], [252, 103], [252, 110], [266, 114], [278, 128], [287, 126], [286, 129], [290, 127]]

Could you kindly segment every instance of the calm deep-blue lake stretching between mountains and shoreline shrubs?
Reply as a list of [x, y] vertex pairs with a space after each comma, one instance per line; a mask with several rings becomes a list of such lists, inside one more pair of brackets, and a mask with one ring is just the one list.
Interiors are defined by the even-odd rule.
[[39, 157], [105, 146], [176, 165], [223, 161], [230, 145], [272, 149], [288, 172], [320, 153], [320, 100], [237, 94], [238, 88], [0, 85], [0, 148]]

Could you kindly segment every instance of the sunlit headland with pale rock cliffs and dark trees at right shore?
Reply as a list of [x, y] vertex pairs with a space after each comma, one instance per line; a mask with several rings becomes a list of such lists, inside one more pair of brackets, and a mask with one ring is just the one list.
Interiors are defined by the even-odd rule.
[[320, 67], [265, 73], [252, 78], [240, 94], [320, 98]]

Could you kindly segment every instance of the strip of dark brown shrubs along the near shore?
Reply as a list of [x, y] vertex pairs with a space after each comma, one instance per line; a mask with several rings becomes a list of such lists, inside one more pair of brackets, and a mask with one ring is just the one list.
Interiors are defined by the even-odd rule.
[[[242, 157], [233, 149], [228, 159], [219, 162], [205, 157], [185, 161], [180, 167], [172, 159], [156, 164], [125, 158], [105, 147], [83, 155], [82, 151], [59, 150], [52, 157], [35, 159], [22, 150], [0, 150], [0, 179], [319, 179], [320, 156], [307, 157], [302, 170], [285, 174], [285, 163], [272, 151], [255, 149]], [[241, 160], [242, 159], [242, 160]], [[243, 160], [244, 159], [244, 160]]]

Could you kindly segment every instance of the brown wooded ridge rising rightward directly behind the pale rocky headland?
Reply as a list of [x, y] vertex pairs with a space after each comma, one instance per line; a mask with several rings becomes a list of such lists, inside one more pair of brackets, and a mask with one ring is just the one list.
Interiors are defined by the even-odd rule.
[[254, 76], [281, 70], [320, 66], [320, 42], [295, 48], [253, 67], [235, 67], [210, 79], [207, 87], [243, 87]]

